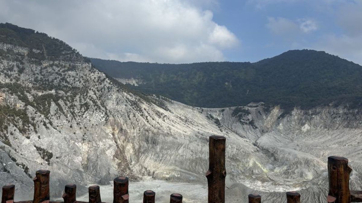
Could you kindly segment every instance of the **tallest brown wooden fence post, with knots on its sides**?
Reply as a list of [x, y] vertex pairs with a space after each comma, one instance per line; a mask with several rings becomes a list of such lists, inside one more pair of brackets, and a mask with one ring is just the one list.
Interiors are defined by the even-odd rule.
[[209, 203], [225, 203], [225, 142], [223, 136], [209, 137], [209, 170], [206, 172]]

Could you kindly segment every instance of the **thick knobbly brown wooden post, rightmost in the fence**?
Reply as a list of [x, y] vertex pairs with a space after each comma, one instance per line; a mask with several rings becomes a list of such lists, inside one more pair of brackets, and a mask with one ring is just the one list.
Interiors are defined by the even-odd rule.
[[333, 197], [335, 203], [350, 203], [349, 174], [352, 169], [348, 166], [348, 159], [341, 156], [328, 157], [328, 199]]

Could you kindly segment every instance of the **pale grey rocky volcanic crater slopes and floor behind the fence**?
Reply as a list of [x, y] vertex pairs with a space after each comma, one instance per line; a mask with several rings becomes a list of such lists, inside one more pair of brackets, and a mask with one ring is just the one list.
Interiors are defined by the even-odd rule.
[[16, 185], [16, 200], [32, 199], [32, 177], [47, 169], [52, 199], [67, 183], [81, 195], [125, 175], [130, 193], [153, 189], [165, 202], [181, 185], [184, 202], [205, 202], [212, 134], [227, 138], [226, 202], [254, 192], [286, 202], [287, 190], [325, 202], [330, 155], [350, 159], [351, 189], [361, 189], [361, 109], [192, 107], [130, 90], [58, 39], [0, 24], [0, 183]]

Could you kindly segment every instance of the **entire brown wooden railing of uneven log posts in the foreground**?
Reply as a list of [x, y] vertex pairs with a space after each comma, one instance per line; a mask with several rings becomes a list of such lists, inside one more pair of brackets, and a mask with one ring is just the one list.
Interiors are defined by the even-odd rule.
[[[206, 172], [208, 189], [208, 203], [225, 202], [225, 148], [226, 138], [212, 135], [209, 138], [209, 170]], [[352, 169], [348, 166], [348, 159], [340, 156], [328, 157], [329, 192], [328, 203], [362, 202], [362, 191], [349, 190], [349, 174]], [[34, 178], [34, 198], [29, 201], [16, 203], [61, 203], [50, 202], [49, 195], [49, 170], [38, 170]], [[128, 203], [128, 178], [117, 177], [113, 180], [113, 203]], [[64, 203], [86, 203], [76, 200], [76, 188], [74, 184], [64, 188]], [[14, 203], [14, 185], [3, 186], [1, 203]], [[101, 203], [100, 189], [98, 185], [88, 187], [89, 203]], [[156, 193], [146, 190], [143, 193], [143, 203], [155, 203]], [[247, 200], [248, 199], [248, 200]], [[287, 203], [300, 203], [300, 194], [295, 191], [286, 193]], [[261, 203], [262, 197], [258, 194], [249, 194], [245, 202]], [[170, 195], [170, 203], [182, 203], [182, 195], [173, 193]]]

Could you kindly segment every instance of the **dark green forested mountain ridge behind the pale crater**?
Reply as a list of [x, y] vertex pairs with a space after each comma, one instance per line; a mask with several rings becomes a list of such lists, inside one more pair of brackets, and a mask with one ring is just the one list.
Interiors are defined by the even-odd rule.
[[90, 61], [132, 89], [198, 107], [264, 102], [310, 109], [342, 103], [360, 107], [362, 101], [362, 66], [323, 51], [292, 50], [255, 63]]

